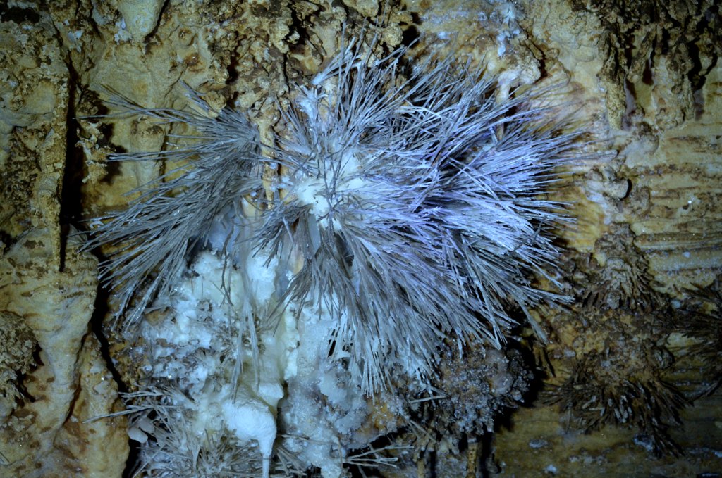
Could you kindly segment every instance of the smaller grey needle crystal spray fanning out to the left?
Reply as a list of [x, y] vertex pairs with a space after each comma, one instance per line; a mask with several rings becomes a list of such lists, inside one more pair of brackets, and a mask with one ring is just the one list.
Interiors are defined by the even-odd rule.
[[[197, 94], [189, 92], [188, 97], [191, 112], [139, 107], [118, 94], [109, 101], [120, 108], [118, 115], [145, 115], [160, 125], [182, 124], [196, 130], [190, 135], [170, 135], [173, 143], [163, 151], [109, 158], [177, 165], [134, 191], [139, 196], [126, 210], [98, 218], [103, 225], [86, 244], [88, 249], [102, 244], [116, 247], [101, 262], [101, 278], [113, 287], [113, 301], [118, 312], [126, 314], [126, 325], [134, 324], [154, 298], [170, 295], [196, 246], [213, 239], [222, 245], [230, 243], [243, 217], [243, 198], [261, 190], [255, 171], [256, 128], [240, 112], [224, 109], [214, 115]], [[221, 239], [212, 236], [219, 227], [225, 231]], [[225, 247], [219, 249], [225, 252]]]

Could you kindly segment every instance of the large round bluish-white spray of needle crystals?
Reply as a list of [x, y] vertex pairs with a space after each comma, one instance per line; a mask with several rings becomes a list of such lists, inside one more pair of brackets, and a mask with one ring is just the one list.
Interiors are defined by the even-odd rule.
[[300, 88], [257, 244], [302, 262], [287, 297], [330, 311], [333, 355], [366, 391], [395, 366], [429, 373], [444, 337], [499, 347], [510, 306], [550, 298], [528, 274], [557, 255], [560, 205], [541, 194], [571, 139], [482, 71], [406, 71], [401, 53], [351, 46]]

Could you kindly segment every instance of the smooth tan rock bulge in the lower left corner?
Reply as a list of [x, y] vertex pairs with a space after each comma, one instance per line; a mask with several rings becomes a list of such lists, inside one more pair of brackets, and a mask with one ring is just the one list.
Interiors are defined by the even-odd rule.
[[[94, 306], [97, 261], [70, 250], [62, 272], [48, 267], [52, 252], [29, 247], [47, 234], [32, 229], [0, 259], [0, 310], [22, 317], [39, 350], [36, 368], [23, 381], [25, 399], [0, 428], [7, 470], [16, 476], [67, 476], [78, 469], [91, 473], [97, 466], [103, 469], [108, 451], [120, 461], [127, 454], [124, 420], [80, 424], [116, 411], [118, 399], [114, 383], [98, 385], [109, 381], [110, 374], [97, 341], [86, 338], [82, 347]], [[91, 446], [95, 433], [105, 440]], [[84, 441], [88, 444], [80, 446]], [[108, 470], [121, 469], [113, 464]]]

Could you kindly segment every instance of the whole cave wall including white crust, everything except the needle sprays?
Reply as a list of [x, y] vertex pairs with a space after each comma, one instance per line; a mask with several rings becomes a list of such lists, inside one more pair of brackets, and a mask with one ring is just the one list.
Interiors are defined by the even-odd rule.
[[[146, 452], [151, 476], [718, 472], [720, 10], [617, 3], [0, 6], [0, 474], [121, 477]], [[258, 254], [240, 267], [213, 252], [216, 239], [190, 249], [172, 291], [123, 335], [116, 297], [97, 283], [96, 257], [113, 249], [82, 252], [97, 227], [86, 220], [123, 211], [139, 196], [127, 192], [181, 164], [108, 156], [170, 151], [173, 135], [195, 132], [90, 118], [113, 112], [102, 92], [184, 110], [186, 84], [209, 112], [244, 112], [271, 158], [280, 112], [304, 106], [297, 88], [313, 92], [342, 38], [362, 34], [378, 52], [413, 45], [412, 67], [451, 54], [484, 64], [499, 102], [564, 85], [550, 99], [588, 132], [583, 159], [540, 199], [568, 203], [573, 222], [552, 234], [559, 272], [528, 279], [571, 300], [529, 319], [512, 307], [521, 326], [500, 349], [439, 340], [427, 380], [391, 364], [391, 387], [369, 394], [349, 386], [352, 360], [324, 338], [334, 321], [323, 311], [249, 303], [287, 286], [258, 275], [279, 262]], [[261, 172], [266, 200], [285, 199], [268, 196], [279, 169]], [[281, 310], [272, 327], [257, 320]]]

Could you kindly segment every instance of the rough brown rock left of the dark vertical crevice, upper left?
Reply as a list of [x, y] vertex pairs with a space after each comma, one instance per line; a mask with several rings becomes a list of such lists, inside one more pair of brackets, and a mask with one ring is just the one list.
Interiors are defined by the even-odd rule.
[[0, 23], [0, 231], [45, 229], [34, 247], [58, 269], [69, 74], [47, 26]]

